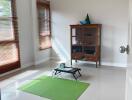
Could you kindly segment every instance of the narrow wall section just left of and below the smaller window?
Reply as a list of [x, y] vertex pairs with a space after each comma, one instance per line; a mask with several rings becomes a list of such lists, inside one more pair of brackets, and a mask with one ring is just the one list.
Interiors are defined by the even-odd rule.
[[38, 33], [38, 16], [36, 0], [31, 0], [31, 19], [32, 19], [32, 31], [33, 31], [33, 42], [34, 42], [34, 54], [35, 64], [42, 63], [50, 59], [51, 49], [39, 50], [39, 33]]

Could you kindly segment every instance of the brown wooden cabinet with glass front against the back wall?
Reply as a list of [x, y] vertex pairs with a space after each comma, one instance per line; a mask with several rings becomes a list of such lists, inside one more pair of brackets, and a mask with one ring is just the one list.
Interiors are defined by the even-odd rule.
[[93, 61], [101, 59], [101, 24], [70, 25], [72, 60]]

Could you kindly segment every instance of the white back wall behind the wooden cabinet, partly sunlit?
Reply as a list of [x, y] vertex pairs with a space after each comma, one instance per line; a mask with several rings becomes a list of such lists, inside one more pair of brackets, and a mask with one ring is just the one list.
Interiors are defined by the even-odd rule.
[[54, 48], [62, 58], [70, 57], [69, 25], [89, 13], [92, 23], [102, 24], [102, 64], [126, 67], [119, 47], [127, 44], [128, 0], [51, 0], [51, 10]]

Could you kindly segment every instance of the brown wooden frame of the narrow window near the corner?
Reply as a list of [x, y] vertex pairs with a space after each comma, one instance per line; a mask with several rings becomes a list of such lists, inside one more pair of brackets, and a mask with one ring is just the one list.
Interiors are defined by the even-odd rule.
[[[45, 6], [45, 7], [44, 7]], [[45, 36], [41, 36], [41, 30], [40, 30], [40, 23], [39, 23], [39, 14], [38, 11], [40, 9], [40, 7], [42, 8], [47, 8], [49, 10], [49, 35], [45, 35]], [[41, 48], [41, 37], [49, 37], [50, 38], [50, 42], [51, 42], [51, 10], [50, 10], [50, 1], [47, 0], [37, 0], [37, 16], [38, 16], [38, 32], [39, 32], [39, 50], [46, 50], [46, 49], [50, 49], [52, 48], [52, 43], [49, 47], [45, 47], [45, 48]]]

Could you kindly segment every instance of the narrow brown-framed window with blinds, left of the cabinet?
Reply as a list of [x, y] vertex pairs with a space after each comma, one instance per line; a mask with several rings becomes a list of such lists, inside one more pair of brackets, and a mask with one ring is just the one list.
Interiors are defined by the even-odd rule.
[[40, 50], [51, 48], [50, 2], [37, 0]]

